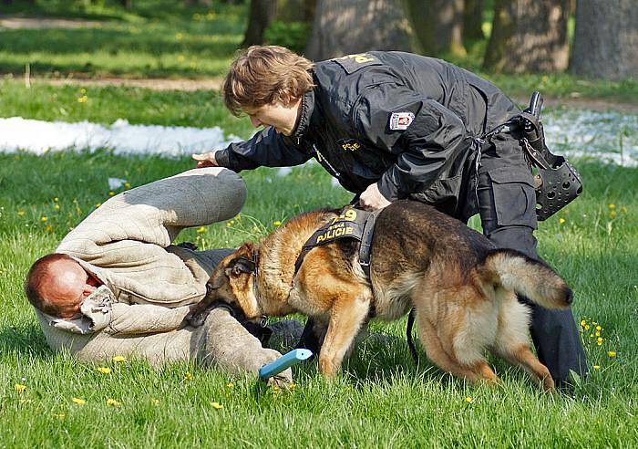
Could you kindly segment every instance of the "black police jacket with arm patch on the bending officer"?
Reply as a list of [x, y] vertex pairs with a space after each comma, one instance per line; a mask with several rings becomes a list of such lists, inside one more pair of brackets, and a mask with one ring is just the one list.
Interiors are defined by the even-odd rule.
[[[345, 189], [371, 183], [458, 215], [473, 140], [520, 110], [499, 89], [440, 59], [371, 51], [319, 62], [291, 136], [272, 127], [215, 155], [236, 172], [315, 157]], [[487, 120], [486, 120], [487, 119]]]

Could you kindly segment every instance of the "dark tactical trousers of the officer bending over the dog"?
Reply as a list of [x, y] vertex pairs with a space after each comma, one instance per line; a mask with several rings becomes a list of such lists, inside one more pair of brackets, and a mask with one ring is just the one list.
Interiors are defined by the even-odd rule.
[[[509, 134], [499, 134], [484, 145], [473, 193], [478, 197], [483, 233], [489, 240], [540, 260], [533, 235], [537, 223], [532, 177], [519, 142]], [[570, 371], [586, 374], [585, 354], [571, 309], [549, 310], [527, 298], [520, 301], [532, 310], [531, 339], [540, 362], [557, 384], [568, 381]]]

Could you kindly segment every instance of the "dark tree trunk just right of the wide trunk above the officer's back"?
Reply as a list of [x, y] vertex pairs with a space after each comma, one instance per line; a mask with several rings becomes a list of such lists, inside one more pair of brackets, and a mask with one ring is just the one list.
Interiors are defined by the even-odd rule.
[[465, 54], [463, 0], [406, 0], [406, 6], [423, 53]]

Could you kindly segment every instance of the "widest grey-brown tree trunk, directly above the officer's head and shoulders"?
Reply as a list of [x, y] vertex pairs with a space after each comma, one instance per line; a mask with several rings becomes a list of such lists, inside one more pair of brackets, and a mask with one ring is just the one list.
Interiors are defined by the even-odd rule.
[[306, 57], [322, 60], [368, 50], [409, 51], [402, 0], [318, 0]]

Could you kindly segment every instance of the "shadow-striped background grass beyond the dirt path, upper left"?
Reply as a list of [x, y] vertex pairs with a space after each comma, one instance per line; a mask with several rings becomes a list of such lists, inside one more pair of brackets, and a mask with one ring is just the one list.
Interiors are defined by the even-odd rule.
[[2, 30], [0, 72], [59, 77], [211, 78], [222, 76], [242, 41], [244, 6], [190, 7], [135, 1], [135, 9], [64, 3], [26, 9], [25, 16], [81, 17], [97, 26]]

